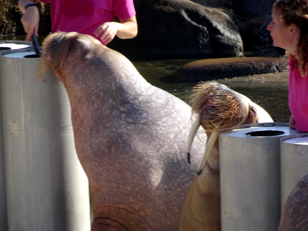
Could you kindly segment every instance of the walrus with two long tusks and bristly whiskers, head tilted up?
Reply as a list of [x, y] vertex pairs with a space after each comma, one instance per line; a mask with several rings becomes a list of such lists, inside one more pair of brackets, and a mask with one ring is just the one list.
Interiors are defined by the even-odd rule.
[[208, 136], [204, 158], [198, 166], [183, 204], [180, 230], [221, 230], [218, 132], [241, 124], [273, 122], [270, 115], [244, 95], [214, 81], [193, 88], [190, 103], [197, 120], [188, 139], [188, 161], [199, 126]]

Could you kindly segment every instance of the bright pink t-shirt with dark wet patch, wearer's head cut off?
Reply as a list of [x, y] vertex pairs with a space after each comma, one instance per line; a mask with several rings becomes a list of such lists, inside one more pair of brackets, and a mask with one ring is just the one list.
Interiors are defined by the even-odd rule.
[[52, 31], [78, 32], [96, 38], [93, 32], [104, 22], [131, 18], [133, 0], [41, 0], [51, 2]]

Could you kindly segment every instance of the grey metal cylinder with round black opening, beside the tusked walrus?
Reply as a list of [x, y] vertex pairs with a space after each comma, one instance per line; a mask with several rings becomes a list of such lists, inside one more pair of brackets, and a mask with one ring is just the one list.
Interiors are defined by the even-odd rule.
[[223, 231], [277, 231], [280, 138], [288, 123], [244, 124], [219, 136]]

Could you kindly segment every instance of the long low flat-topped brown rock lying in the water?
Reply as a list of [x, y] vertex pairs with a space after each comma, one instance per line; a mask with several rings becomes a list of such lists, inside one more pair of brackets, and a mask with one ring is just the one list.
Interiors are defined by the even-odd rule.
[[183, 82], [199, 82], [288, 70], [288, 60], [282, 58], [221, 58], [187, 63], [174, 72]]

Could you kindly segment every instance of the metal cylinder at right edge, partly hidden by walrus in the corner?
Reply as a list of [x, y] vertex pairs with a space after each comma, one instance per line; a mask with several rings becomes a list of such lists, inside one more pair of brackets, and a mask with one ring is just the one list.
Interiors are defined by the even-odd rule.
[[281, 206], [298, 181], [308, 174], [308, 133], [280, 139]]

